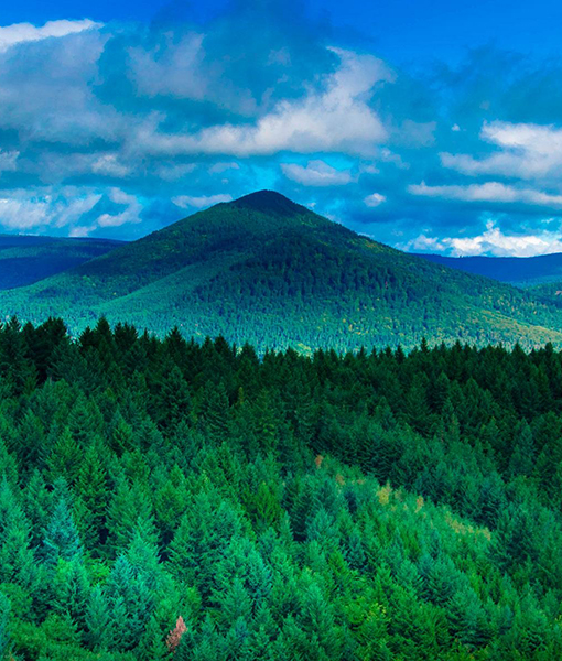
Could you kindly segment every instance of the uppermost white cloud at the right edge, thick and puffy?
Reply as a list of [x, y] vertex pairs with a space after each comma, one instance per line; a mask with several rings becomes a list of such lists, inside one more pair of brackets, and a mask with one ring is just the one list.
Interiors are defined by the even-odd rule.
[[495, 121], [484, 124], [480, 138], [501, 151], [484, 159], [444, 152], [440, 154], [442, 164], [469, 175], [499, 174], [522, 180], [560, 177], [562, 129]]

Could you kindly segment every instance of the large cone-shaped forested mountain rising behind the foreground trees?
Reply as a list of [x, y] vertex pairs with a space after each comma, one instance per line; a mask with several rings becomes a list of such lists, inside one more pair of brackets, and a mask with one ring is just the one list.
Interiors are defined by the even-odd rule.
[[409, 348], [424, 336], [562, 346], [556, 301], [400, 252], [268, 191], [3, 292], [0, 303], [6, 316], [62, 316], [73, 333], [105, 315], [261, 350]]

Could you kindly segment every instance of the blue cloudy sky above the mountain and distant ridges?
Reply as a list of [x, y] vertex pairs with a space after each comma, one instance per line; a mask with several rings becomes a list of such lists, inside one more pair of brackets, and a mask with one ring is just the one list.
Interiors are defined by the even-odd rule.
[[0, 232], [132, 240], [271, 188], [404, 250], [562, 252], [561, 19], [545, 0], [2, 7]]

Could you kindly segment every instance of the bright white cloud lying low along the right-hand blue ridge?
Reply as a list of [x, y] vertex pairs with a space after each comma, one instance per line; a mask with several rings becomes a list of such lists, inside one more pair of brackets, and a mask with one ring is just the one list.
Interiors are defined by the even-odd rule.
[[475, 237], [436, 238], [420, 235], [402, 246], [404, 250], [418, 252], [446, 252], [455, 257], [494, 254], [496, 257], [534, 257], [562, 252], [560, 232], [541, 231], [527, 235], [505, 235], [490, 220], [486, 231]]

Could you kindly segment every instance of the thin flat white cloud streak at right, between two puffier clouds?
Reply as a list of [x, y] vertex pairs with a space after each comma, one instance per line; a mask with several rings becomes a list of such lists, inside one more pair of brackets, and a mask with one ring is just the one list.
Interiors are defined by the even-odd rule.
[[409, 193], [460, 202], [519, 203], [544, 207], [562, 207], [562, 195], [551, 195], [533, 188], [517, 188], [498, 182], [468, 186], [428, 186], [424, 182], [408, 186]]

